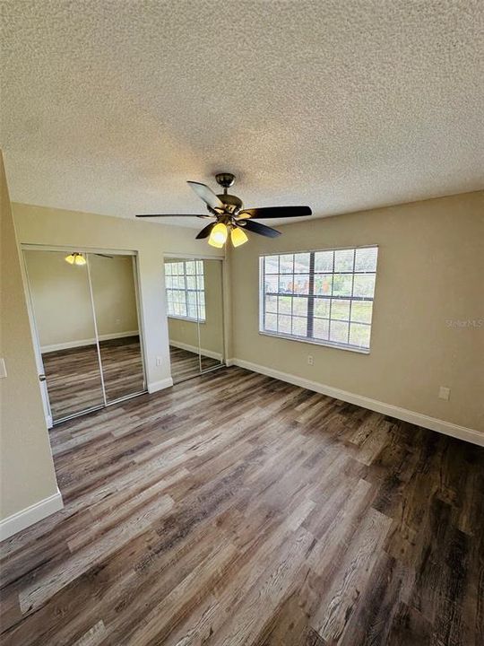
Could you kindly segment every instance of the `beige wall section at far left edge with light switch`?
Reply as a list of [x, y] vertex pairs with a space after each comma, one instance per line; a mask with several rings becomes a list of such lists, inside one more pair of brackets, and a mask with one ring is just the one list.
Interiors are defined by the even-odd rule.
[[0, 520], [4, 520], [56, 494], [57, 485], [1, 154], [0, 182], [0, 356], [7, 371], [7, 377], [0, 379]]

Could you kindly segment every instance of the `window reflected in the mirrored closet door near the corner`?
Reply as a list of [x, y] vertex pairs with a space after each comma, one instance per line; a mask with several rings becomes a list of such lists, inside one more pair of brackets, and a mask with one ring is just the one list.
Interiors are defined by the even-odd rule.
[[205, 320], [203, 260], [165, 262], [169, 317]]

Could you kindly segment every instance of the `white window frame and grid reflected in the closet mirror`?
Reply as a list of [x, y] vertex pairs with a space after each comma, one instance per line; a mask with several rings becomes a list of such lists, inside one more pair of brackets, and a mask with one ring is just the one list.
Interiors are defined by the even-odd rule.
[[[195, 266], [195, 272], [194, 274], [187, 274], [186, 271], [186, 265], [187, 263], [194, 263]], [[167, 266], [169, 265], [182, 265], [183, 266], [183, 274], [169, 274], [167, 270]], [[166, 292], [166, 299], [167, 299], [167, 316], [169, 319], [180, 319], [180, 320], [186, 320], [186, 321], [191, 321], [193, 323], [204, 323], [205, 322], [205, 277], [204, 277], [204, 271], [203, 271], [203, 260], [201, 259], [176, 259], [174, 261], [164, 261], [164, 267], [165, 267], [165, 292]], [[178, 279], [182, 279], [181, 283], [178, 284], [177, 287], [174, 287], [173, 285], [169, 286], [169, 281], [173, 277], [177, 276]], [[194, 276], [194, 281], [195, 281], [195, 288], [189, 288], [187, 285], [188, 278]], [[185, 305], [185, 310], [186, 310], [186, 315], [184, 314], [177, 314], [173, 310], [170, 311], [170, 307], [174, 304], [174, 301], [169, 298], [169, 292], [183, 292], [184, 293], [184, 298], [182, 301], [182, 304]], [[190, 303], [189, 303], [189, 294], [194, 293], [195, 294], [195, 308], [196, 308], [196, 314], [197, 316], [192, 317], [188, 315], [188, 311], [190, 309]]]

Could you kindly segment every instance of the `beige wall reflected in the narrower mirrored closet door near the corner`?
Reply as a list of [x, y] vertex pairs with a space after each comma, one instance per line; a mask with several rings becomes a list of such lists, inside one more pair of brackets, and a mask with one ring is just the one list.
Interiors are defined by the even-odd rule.
[[[203, 351], [223, 357], [222, 263], [203, 260], [205, 284], [205, 320], [200, 323]], [[170, 343], [198, 347], [197, 323], [169, 317]], [[217, 356], [217, 358], [218, 358]]]

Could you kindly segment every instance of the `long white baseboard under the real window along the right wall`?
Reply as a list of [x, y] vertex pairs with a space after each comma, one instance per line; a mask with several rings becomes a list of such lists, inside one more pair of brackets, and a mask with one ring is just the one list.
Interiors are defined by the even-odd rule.
[[466, 426], [459, 426], [458, 424], [445, 422], [445, 420], [423, 415], [422, 413], [416, 413], [415, 411], [401, 408], [400, 406], [393, 406], [393, 404], [385, 404], [385, 402], [371, 399], [370, 397], [364, 397], [363, 395], [355, 395], [354, 393], [350, 393], [348, 390], [341, 390], [341, 388], [325, 386], [317, 381], [305, 380], [302, 377], [297, 377], [296, 375], [291, 375], [287, 372], [272, 370], [272, 368], [266, 368], [265, 366], [257, 363], [246, 362], [243, 359], [229, 359], [227, 365], [237, 365], [240, 368], [246, 368], [246, 370], [260, 372], [267, 377], [287, 381], [295, 386], [307, 388], [307, 390], [314, 390], [322, 395], [341, 399], [341, 401], [368, 408], [369, 410], [376, 411], [376, 413], [396, 417], [396, 419], [400, 419], [403, 422], [410, 422], [416, 426], [428, 428], [430, 431], [441, 432], [445, 435], [451, 435], [458, 440], [464, 440], [471, 442], [472, 444], [477, 444], [478, 446], [484, 446], [484, 433], [467, 428]]

